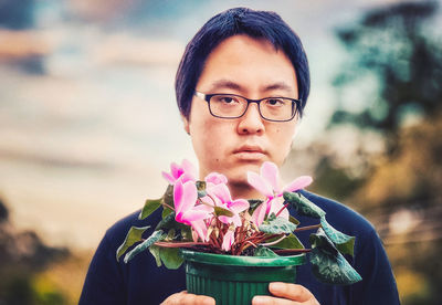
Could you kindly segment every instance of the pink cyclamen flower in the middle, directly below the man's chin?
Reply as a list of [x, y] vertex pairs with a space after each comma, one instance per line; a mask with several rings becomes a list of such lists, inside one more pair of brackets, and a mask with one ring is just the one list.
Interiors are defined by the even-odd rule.
[[235, 227], [240, 227], [242, 222], [239, 213], [250, 208], [249, 201], [245, 199], [232, 200], [229, 188], [224, 183], [208, 187], [206, 190], [215, 201], [212, 202], [214, 206], [228, 209], [233, 213], [232, 217], [220, 215], [219, 220], [227, 224], [233, 223]]

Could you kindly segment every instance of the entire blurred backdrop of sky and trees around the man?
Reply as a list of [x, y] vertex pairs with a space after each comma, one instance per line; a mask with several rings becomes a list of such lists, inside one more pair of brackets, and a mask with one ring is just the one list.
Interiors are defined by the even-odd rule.
[[403, 304], [442, 304], [441, 1], [1, 0], [0, 304], [76, 304], [105, 230], [196, 162], [176, 107], [213, 14], [280, 13], [312, 94], [284, 169], [377, 228]]

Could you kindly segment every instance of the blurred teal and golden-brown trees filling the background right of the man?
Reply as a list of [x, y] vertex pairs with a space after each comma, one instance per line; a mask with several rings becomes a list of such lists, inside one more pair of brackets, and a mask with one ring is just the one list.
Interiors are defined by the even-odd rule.
[[[349, 55], [334, 80], [339, 106], [328, 145], [309, 148], [320, 156], [315, 191], [352, 202], [373, 222], [407, 305], [442, 304], [442, 41], [434, 17], [434, 1], [398, 3], [337, 30]], [[359, 139], [338, 140], [338, 128]]]

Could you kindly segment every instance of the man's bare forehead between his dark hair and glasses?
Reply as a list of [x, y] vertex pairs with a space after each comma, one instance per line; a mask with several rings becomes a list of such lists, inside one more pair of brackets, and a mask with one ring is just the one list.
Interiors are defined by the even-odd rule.
[[297, 95], [292, 61], [270, 41], [234, 35], [222, 41], [206, 60], [199, 91], [235, 90], [244, 94], [284, 88]]

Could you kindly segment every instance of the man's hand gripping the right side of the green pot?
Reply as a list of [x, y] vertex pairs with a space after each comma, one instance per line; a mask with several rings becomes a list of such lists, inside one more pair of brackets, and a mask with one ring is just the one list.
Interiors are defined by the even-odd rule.
[[319, 305], [315, 296], [301, 285], [275, 282], [270, 283], [269, 290], [274, 296], [254, 296], [252, 305]]

